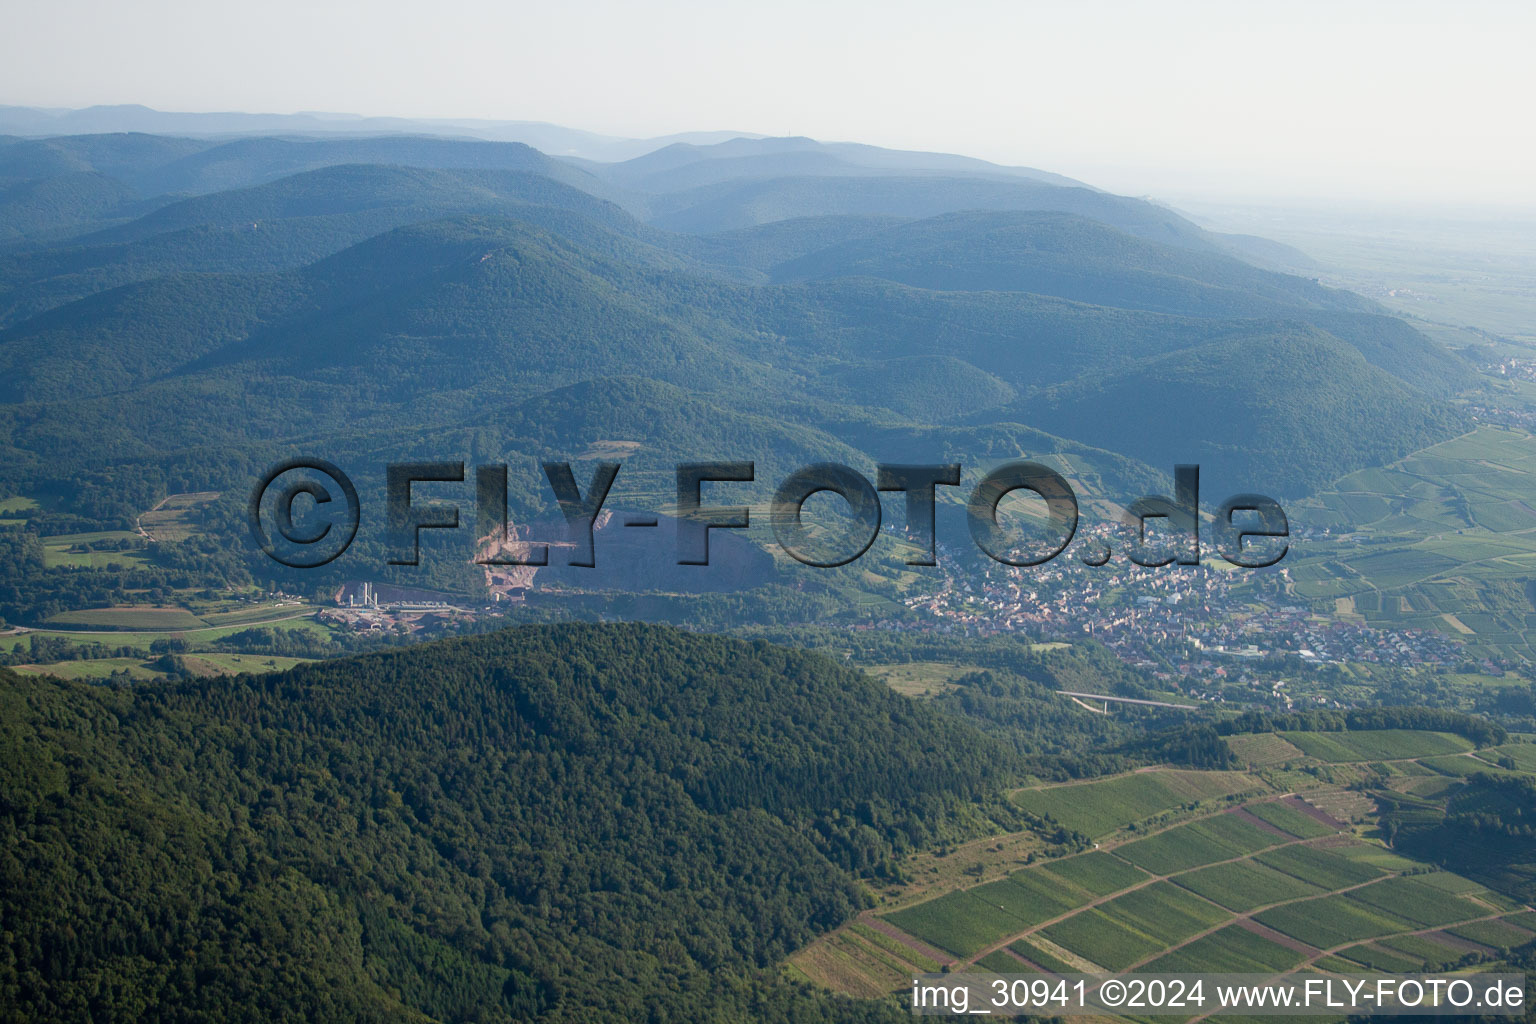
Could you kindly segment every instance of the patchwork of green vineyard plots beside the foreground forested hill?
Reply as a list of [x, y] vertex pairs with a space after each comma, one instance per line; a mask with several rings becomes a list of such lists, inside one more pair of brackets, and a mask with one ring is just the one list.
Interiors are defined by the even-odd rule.
[[[1458, 777], [1436, 768], [1485, 769], [1484, 757], [1527, 763], [1536, 751], [1510, 743], [1473, 757], [1461, 737], [1407, 731], [1290, 734], [1281, 742], [1303, 765], [1332, 758], [1326, 768], [1382, 788], [1398, 780], [1458, 786]], [[1419, 760], [1404, 760], [1413, 754]], [[1192, 778], [1198, 775], [1204, 785]], [[1272, 788], [1304, 780], [1312, 788], [1301, 792]], [[949, 970], [1001, 973], [1418, 972], [1536, 943], [1536, 912], [1482, 881], [1390, 849], [1373, 838], [1369, 792], [1303, 771], [1152, 769], [1026, 789], [1015, 798], [1081, 834], [1095, 831], [1098, 841], [1003, 880], [958, 881], [938, 895], [914, 887], [906, 901], [897, 894], [895, 906], [866, 912], [862, 923], [886, 929], [883, 936], [903, 949], [928, 950]], [[1115, 814], [1124, 817], [1117, 823]], [[831, 955], [822, 946], [813, 944], [817, 958]], [[874, 984], [874, 970], [860, 984]]]

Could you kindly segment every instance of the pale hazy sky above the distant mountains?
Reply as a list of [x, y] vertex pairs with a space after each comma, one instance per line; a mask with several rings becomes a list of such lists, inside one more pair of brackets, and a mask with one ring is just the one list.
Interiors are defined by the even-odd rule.
[[1536, 203], [1521, 0], [6, 0], [0, 103], [739, 129], [1129, 193]]

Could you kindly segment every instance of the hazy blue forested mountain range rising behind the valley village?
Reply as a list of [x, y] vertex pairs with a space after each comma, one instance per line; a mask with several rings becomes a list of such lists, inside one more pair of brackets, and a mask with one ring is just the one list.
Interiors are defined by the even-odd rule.
[[1471, 367], [1253, 255], [1283, 252], [1043, 172], [799, 138], [619, 163], [0, 138], [3, 473], [238, 490], [275, 450], [624, 439], [657, 471], [1069, 456], [1123, 499], [1189, 461], [1299, 494], [1458, 433]]

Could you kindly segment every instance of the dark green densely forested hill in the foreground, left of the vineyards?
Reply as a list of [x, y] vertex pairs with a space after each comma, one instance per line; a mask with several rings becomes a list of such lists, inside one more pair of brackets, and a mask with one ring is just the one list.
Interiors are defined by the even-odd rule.
[[653, 626], [132, 689], [0, 669], [0, 1007], [895, 1019], [773, 966], [1008, 771], [820, 656]]

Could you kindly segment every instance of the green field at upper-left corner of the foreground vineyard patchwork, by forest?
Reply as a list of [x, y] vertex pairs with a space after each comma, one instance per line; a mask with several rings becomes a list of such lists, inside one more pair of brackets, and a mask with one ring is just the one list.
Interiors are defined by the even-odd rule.
[[1155, 771], [1023, 789], [1014, 794], [1014, 801], [1074, 832], [1101, 837], [1175, 808], [1258, 788], [1260, 783], [1243, 772]]

